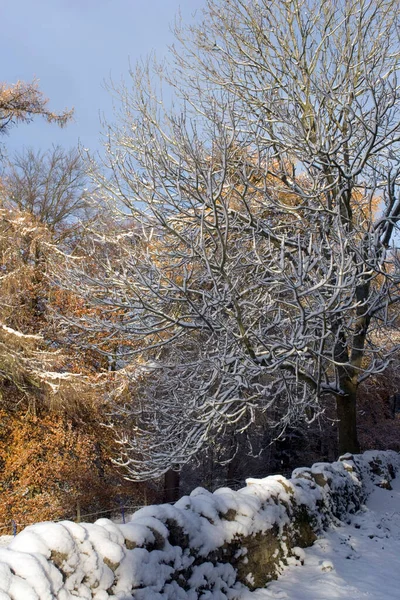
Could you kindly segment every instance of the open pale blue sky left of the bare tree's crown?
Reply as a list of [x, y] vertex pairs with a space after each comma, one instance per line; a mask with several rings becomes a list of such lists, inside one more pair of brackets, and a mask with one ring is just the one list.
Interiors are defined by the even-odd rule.
[[150, 52], [162, 58], [173, 42], [171, 26], [201, 16], [206, 0], [0, 0], [0, 82], [39, 80], [55, 112], [75, 109], [61, 130], [43, 119], [14, 127], [9, 155], [23, 147], [47, 150], [81, 143], [100, 147], [100, 116], [113, 120], [105, 82], [129, 80], [129, 65]]

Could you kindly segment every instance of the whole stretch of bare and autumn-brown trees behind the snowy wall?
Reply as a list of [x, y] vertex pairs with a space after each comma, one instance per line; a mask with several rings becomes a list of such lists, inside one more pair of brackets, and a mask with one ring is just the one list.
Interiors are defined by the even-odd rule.
[[0, 528], [400, 450], [399, 19], [210, 0], [99, 156], [0, 84]]

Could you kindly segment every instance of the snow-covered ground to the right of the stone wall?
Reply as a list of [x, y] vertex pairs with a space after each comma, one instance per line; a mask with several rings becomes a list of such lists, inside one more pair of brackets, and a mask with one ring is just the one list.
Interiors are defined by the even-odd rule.
[[303, 566], [241, 600], [399, 600], [400, 476], [392, 487], [376, 488], [351, 523], [305, 549]]

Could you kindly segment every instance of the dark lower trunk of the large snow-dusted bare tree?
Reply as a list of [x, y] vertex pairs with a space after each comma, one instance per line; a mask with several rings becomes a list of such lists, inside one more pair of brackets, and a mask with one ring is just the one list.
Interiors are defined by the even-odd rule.
[[358, 454], [360, 445], [357, 437], [357, 386], [352, 381], [347, 381], [344, 389], [347, 392], [345, 396], [336, 396], [339, 454]]

